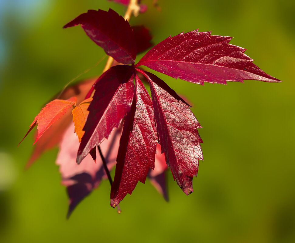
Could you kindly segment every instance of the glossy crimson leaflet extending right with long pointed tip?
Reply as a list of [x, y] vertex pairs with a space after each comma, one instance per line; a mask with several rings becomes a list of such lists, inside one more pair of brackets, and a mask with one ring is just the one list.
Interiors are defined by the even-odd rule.
[[259, 69], [245, 49], [228, 44], [232, 37], [197, 30], [168, 37], [135, 66], [145, 65], [174, 78], [203, 85], [255, 79], [280, 82]]

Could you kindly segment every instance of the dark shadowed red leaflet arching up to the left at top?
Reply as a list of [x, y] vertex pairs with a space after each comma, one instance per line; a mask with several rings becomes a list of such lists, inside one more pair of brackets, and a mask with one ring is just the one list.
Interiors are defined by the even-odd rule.
[[88, 10], [63, 28], [81, 25], [86, 34], [116, 61], [131, 64], [136, 58], [136, 42], [128, 21], [114, 10]]

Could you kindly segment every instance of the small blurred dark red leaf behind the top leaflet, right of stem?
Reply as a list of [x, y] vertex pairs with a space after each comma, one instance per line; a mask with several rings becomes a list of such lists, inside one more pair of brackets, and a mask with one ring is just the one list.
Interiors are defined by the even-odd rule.
[[146, 49], [150, 48], [153, 44], [150, 42], [152, 36], [149, 33], [149, 30], [146, 29], [143, 25], [131, 26], [135, 35], [135, 41], [137, 46], [137, 53], [143, 52]]

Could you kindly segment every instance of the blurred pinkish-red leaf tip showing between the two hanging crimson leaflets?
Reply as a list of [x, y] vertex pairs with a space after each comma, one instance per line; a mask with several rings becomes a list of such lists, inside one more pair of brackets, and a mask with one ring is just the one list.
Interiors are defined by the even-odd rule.
[[156, 190], [164, 197], [166, 201], [168, 199], [165, 171], [168, 168], [164, 154], [161, 154], [161, 145], [157, 143], [157, 150], [155, 155], [155, 169], [149, 170], [149, 180]]

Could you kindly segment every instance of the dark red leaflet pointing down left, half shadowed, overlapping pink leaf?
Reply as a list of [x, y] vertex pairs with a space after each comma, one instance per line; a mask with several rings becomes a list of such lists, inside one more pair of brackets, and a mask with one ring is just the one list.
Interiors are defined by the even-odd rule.
[[133, 97], [133, 71], [118, 65], [103, 73], [95, 84], [93, 100], [77, 155], [79, 164], [92, 148], [108, 138], [130, 110]]

